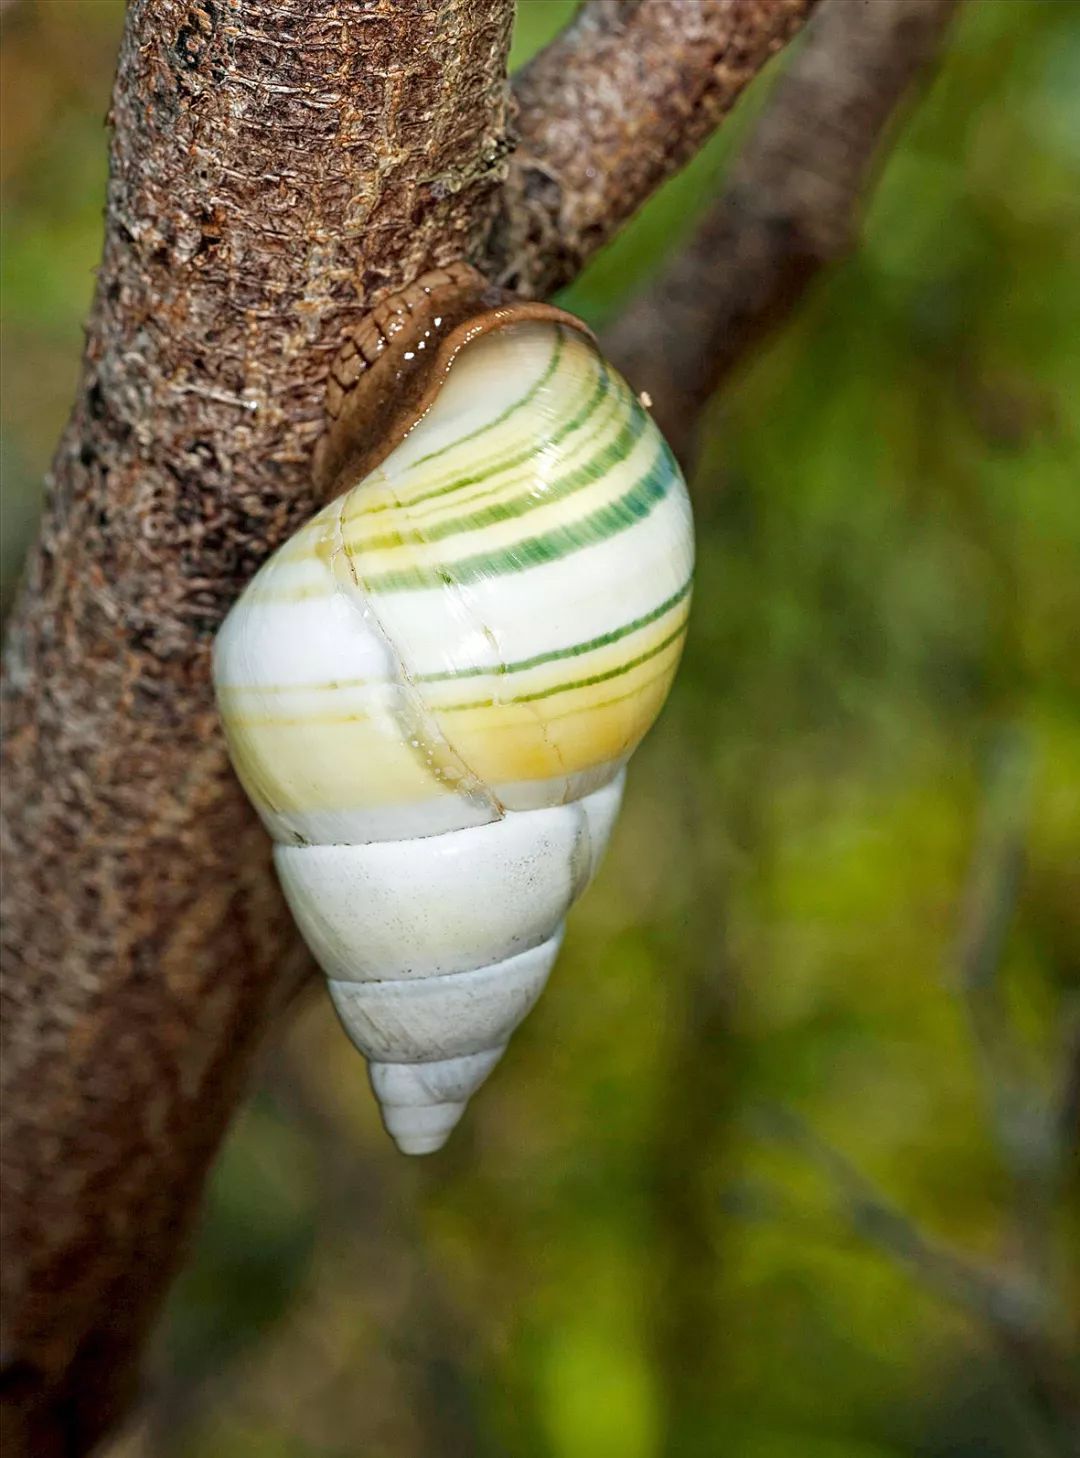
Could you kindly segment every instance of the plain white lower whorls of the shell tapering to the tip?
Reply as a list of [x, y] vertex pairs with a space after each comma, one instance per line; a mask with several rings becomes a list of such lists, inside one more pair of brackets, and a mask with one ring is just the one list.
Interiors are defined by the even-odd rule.
[[[619, 774], [583, 800], [443, 835], [274, 849], [404, 1153], [442, 1146], [544, 990], [622, 783]], [[490, 961], [478, 967], [480, 948]]]

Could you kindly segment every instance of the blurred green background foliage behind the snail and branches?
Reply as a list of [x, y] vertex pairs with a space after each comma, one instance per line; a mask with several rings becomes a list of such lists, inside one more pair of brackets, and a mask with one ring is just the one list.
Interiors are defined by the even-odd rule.
[[[516, 60], [571, 10], [525, 0]], [[3, 20], [6, 601], [121, 23]], [[678, 243], [771, 79], [574, 309]], [[541, 1006], [412, 1163], [312, 996], [117, 1458], [1070, 1451], [1079, 427], [1080, 4], [981, 0], [861, 246], [711, 413], [685, 665]]]

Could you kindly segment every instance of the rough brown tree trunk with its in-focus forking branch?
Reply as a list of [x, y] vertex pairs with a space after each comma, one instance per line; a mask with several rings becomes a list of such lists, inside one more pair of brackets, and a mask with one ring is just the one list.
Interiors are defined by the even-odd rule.
[[[343, 325], [455, 257], [566, 278], [810, 3], [596, 0], [522, 83], [507, 191], [512, 0], [131, 4], [83, 376], [7, 652], [9, 1454], [85, 1452], [122, 1411], [302, 977], [208, 647], [312, 506]], [[596, 71], [593, 104], [615, 55], [659, 66], [678, 118]]]

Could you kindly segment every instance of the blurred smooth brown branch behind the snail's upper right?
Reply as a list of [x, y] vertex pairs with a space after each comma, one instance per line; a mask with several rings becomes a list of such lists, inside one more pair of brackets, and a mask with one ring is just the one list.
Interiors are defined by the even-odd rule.
[[857, 236], [896, 108], [959, 0], [825, 0], [717, 204], [605, 335], [684, 465], [701, 407]]

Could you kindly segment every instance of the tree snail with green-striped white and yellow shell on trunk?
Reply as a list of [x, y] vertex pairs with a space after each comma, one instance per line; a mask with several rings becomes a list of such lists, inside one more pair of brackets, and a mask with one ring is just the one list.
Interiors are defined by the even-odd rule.
[[686, 630], [678, 465], [587, 328], [456, 264], [326, 394], [329, 496], [214, 644], [235, 770], [405, 1153], [536, 1002]]

